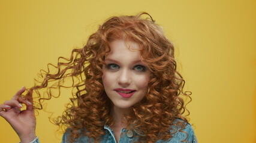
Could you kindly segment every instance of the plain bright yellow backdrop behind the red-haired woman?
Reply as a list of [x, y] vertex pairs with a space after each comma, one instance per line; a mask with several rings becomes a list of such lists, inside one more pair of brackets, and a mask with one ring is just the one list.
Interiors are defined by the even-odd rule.
[[[256, 1], [0, 1], [1, 98], [34, 85], [40, 69], [68, 57], [112, 15], [147, 11], [176, 46], [190, 122], [199, 142], [256, 142]], [[61, 113], [69, 92], [49, 101]], [[37, 116], [41, 142], [61, 142], [48, 117]], [[0, 118], [0, 142], [19, 142]]]

